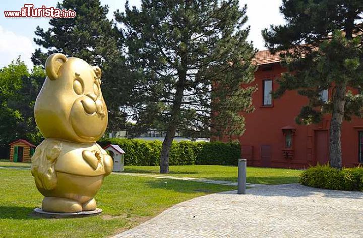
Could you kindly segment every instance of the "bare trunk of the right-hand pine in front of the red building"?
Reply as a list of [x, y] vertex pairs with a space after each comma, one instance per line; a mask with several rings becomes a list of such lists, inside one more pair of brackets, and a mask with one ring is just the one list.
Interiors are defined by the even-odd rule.
[[333, 95], [333, 113], [330, 122], [329, 160], [330, 166], [340, 169], [342, 167], [341, 152], [341, 126], [344, 117], [346, 85], [335, 87]]

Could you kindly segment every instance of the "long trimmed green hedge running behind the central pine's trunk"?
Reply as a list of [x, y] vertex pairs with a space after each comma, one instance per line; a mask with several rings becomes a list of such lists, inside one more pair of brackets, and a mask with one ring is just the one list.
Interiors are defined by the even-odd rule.
[[[125, 151], [125, 165], [159, 165], [162, 142], [138, 139], [105, 138], [98, 141], [104, 147], [119, 145]], [[169, 165], [237, 165], [240, 145], [236, 142], [173, 142]]]

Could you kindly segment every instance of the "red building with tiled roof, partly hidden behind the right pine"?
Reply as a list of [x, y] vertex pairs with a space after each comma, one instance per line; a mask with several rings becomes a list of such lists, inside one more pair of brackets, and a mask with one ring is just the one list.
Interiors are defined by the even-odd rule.
[[[295, 117], [308, 99], [297, 91], [287, 91], [281, 98], [273, 99], [271, 91], [278, 88], [276, 79], [286, 69], [280, 65], [278, 55], [268, 50], [257, 53], [254, 63], [259, 65], [255, 73], [258, 90], [253, 94], [255, 111], [244, 114], [246, 131], [239, 137], [242, 158], [249, 166], [306, 168], [325, 164], [329, 157], [330, 116], [326, 115], [317, 125], [298, 125]], [[331, 91], [322, 92], [322, 100], [328, 100]], [[363, 163], [363, 120], [353, 118], [342, 125], [343, 166]]]

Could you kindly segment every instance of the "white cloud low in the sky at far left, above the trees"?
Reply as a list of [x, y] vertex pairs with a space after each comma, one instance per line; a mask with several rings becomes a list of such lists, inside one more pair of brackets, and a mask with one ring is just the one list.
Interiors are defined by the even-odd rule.
[[33, 67], [30, 60], [31, 54], [35, 51], [35, 45], [31, 38], [17, 35], [0, 26], [0, 67], [7, 66], [11, 61], [15, 61], [20, 55], [22, 61], [28, 66]]

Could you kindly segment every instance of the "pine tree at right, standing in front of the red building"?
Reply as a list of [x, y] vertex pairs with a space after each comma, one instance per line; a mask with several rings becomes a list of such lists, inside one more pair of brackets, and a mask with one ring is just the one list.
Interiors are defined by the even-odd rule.
[[[266, 46], [272, 53], [280, 53], [288, 69], [278, 80], [280, 88], [274, 96], [298, 90], [309, 98], [297, 117], [300, 123], [317, 123], [324, 113], [332, 115], [330, 165], [341, 168], [342, 122], [363, 115], [362, 25], [356, 24], [363, 2], [283, 0], [280, 11], [287, 23], [262, 32]], [[324, 89], [332, 91], [327, 103], [320, 97]], [[353, 95], [349, 89], [359, 93]]]

